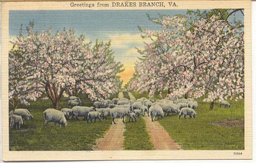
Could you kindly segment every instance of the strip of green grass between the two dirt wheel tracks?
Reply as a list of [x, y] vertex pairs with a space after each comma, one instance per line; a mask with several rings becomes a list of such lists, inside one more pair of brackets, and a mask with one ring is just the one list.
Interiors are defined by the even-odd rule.
[[124, 132], [124, 149], [125, 150], [152, 150], [153, 144], [151, 143], [148, 134], [145, 120], [141, 117], [137, 122], [130, 122], [126, 117], [125, 132]]

